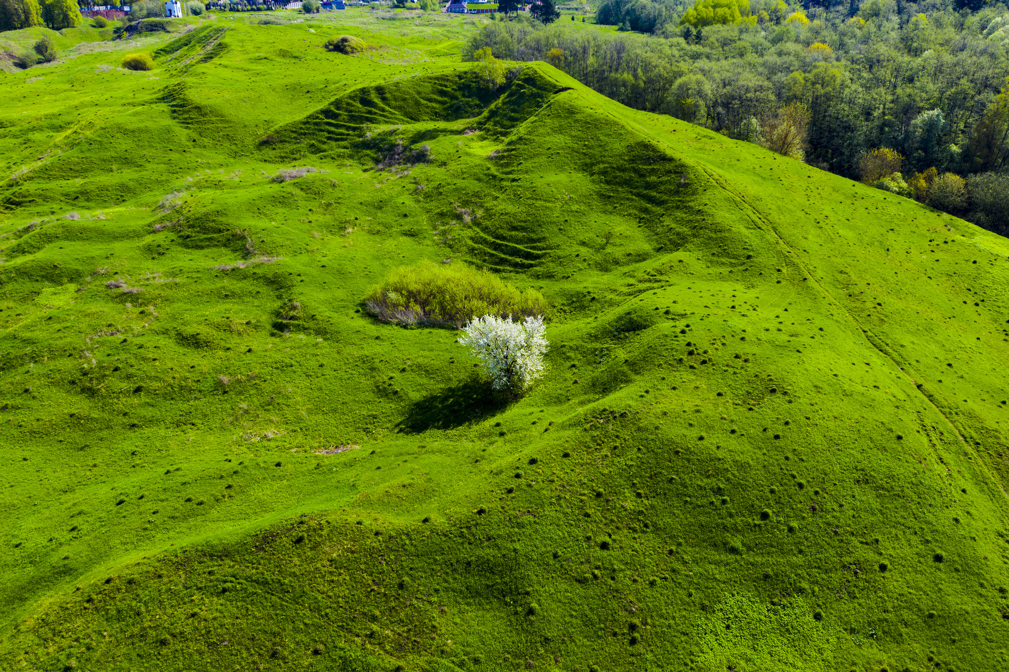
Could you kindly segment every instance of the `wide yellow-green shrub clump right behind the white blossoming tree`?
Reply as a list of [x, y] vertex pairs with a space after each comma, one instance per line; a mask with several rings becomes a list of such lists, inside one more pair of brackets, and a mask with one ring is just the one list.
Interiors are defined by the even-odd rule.
[[456, 328], [477, 316], [536, 317], [547, 308], [536, 290], [520, 292], [486, 271], [431, 261], [397, 268], [371, 291], [365, 305], [383, 322]]

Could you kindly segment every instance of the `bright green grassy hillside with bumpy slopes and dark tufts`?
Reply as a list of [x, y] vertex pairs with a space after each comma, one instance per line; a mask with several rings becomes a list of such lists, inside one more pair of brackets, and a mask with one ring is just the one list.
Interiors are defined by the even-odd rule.
[[[4, 76], [5, 668], [1001, 668], [1004, 239], [547, 66], [487, 96], [459, 21], [244, 21]], [[433, 161], [365, 170], [389, 124]], [[421, 258], [542, 288], [529, 397], [356, 312]]]

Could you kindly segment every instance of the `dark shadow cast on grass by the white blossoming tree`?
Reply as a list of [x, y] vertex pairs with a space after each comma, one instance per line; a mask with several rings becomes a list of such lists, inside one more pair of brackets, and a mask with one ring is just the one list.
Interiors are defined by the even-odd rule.
[[493, 416], [507, 407], [507, 400], [495, 395], [485, 380], [473, 376], [412, 404], [407, 417], [397, 423], [397, 432], [420, 434], [429, 429], [462, 427]]

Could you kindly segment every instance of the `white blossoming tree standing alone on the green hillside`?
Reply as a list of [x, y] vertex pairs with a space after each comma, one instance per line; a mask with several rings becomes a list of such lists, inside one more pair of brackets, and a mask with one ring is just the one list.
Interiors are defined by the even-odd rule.
[[511, 316], [484, 315], [470, 320], [462, 331], [459, 342], [483, 361], [494, 389], [519, 395], [543, 373], [548, 343], [542, 317], [513, 322]]

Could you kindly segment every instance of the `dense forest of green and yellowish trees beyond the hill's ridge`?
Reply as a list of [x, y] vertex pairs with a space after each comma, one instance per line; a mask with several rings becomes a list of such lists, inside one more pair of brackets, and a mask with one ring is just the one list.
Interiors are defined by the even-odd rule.
[[1009, 234], [1009, 9], [943, 0], [606, 0], [493, 21], [464, 58], [549, 61], [631, 107], [760, 142]]

